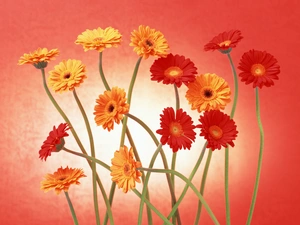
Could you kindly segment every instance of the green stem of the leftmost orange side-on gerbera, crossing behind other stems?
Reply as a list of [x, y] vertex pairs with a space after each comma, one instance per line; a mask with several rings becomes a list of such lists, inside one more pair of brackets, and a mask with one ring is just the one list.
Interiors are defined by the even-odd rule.
[[[72, 132], [72, 134], [73, 134], [73, 136], [74, 136], [74, 138], [75, 138], [75, 140], [76, 140], [76, 142], [77, 142], [79, 148], [81, 149], [82, 153], [85, 154], [85, 155], [87, 155], [87, 152], [86, 152], [86, 150], [84, 149], [84, 147], [83, 147], [83, 145], [82, 145], [82, 143], [81, 143], [81, 141], [80, 141], [80, 139], [79, 139], [79, 137], [78, 137], [78, 135], [77, 135], [75, 129], [73, 128], [73, 126], [72, 126], [72, 124], [71, 124], [71, 121], [70, 121], [69, 118], [66, 116], [66, 114], [63, 112], [63, 110], [60, 108], [60, 106], [57, 104], [57, 102], [56, 102], [55, 99], [53, 98], [53, 96], [52, 96], [52, 94], [51, 94], [51, 92], [50, 92], [50, 90], [49, 90], [49, 88], [48, 88], [48, 86], [47, 86], [46, 77], [45, 77], [45, 70], [44, 70], [44, 69], [41, 69], [41, 71], [42, 71], [42, 77], [43, 77], [43, 85], [44, 85], [44, 89], [45, 89], [45, 91], [46, 91], [46, 93], [47, 93], [49, 99], [51, 100], [52, 104], [55, 106], [55, 108], [56, 108], [56, 110], [59, 112], [59, 114], [63, 117], [63, 119], [65, 120], [65, 122], [69, 124], [70, 130], [71, 130], [71, 132]], [[89, 166], [92, 168], [91, 162], [90, 162], [90, 161], [87, 161], [87, 162], [88, 162]], [[104, 202], [105, 202], [106, 207], [107, 207], [107, 210], [108, 210], [108, 212], [109, 212], [109, 219], [110, 219], [110, 222], [111, 222], [111, 224], [114, 224], [114, 223], [113, 223], [113, 218], [112, 218], [111, 207], [110, 207], [110, 205], [108, 205], [108, 199], [107, 199], [105, 190], [104, 190], [104, 188], [103, 188], [103, 185], [102, 185], [101, 180], [100, 180], [100, 178], [99, 178], [98, 175], [97, 175], [97, 183], [98, 183], [98, 186], [99, 186], [99, 188], [100, 188], [100, 190], [101, 190], [101, 192], [102, 192]]]

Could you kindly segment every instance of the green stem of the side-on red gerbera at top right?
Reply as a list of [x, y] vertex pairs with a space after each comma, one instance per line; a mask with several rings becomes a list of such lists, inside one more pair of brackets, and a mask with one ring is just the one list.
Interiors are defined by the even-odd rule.
[[[238, 100], [238, 92], [239, 92], [239, 86], [238, 86], [238, 78], [236, 74], [236, 70], [233, 64], [233, 61], [231, 59], [230, 53], [227, 54], [230, 66], [233, 72], [233, 78], [234, 78], [234, 99], [233, 99], [233, 105], [230, 113], [230, 118], [232, 119], [234, 117], [236, 104]], [[225, 205], [226, 205], [226, 224], [230, 225], [230, 201], [229, 201], [229, 147], [225, 148]]]

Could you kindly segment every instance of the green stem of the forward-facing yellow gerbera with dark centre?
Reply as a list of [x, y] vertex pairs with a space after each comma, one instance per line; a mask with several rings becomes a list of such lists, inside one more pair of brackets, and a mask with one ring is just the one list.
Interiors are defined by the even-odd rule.
[[[78, 108], [80, 109], [80, 112], [81, 112], [82, 117], [84, 119], [84, 123], [85, 123], [86, 129], [87, 129], [88, 135], [89, 135], [91, 155], [92, 155], [92, 157], [95, 158], [94, 138], [93, 138], [93, 133], [92, 133], [92, 130], [91, 130], [90, 122], [87, 118], [85, 110], [84, 110], [84, 108], [83, 108], [83, 106], [82, 106], [82, 104], [81, 104], [81, 102], [78, 98], [78, 95], [77, 95], [75, 89], [73, 90], [73, 95], [74, 95], [74, 98], [75, 98], [76, 103], [78, 105]], [[100, 225], [98, 196], [97, 196], [97, 183], [96, 183], [97, 173], [96, 173], [96, 163], [95, 162], [92, 162], [92, 175], [93, 175], [93, 182], [92, 183], [93, 183], [93, 198], [94, 198], [94, 210], [95, 210], [95, 216], [96, 216], [96, 224]]]

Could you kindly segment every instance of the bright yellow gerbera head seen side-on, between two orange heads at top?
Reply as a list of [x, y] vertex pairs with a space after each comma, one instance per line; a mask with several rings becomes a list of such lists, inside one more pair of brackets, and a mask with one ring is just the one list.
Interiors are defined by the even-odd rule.
[[82, 45], [85, 52], [88, 50], [102, 52], [105, 48], [118, 47], [121, 43], [121, 37], [119, 31], [112, 27], [107, 27], [104, 30], [98, 27], [78, 35], [75, 44]]

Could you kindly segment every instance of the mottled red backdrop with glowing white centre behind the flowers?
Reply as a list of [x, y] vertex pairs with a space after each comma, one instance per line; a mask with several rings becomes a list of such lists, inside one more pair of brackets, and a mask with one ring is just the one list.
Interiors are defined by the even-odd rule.
[[[70, 196], [79, 223], [95, 224], [92, 206], [91, 174], [86, 161], [67, 153], [53, 154], [47, 162], [38, 159], [38, 150], [53, 125], [63, 122], [48, 100], [42, 87], [40, 71], [33, 66], [17, 66], [23, 53], [38, 47], [58, 48], [57, 61], [75, 58], [87, 65], [88, 79], [78, 88], [78, 95], [89, 114], [95, 132], [97, 156], [110, 164], [118, 149], [121, 126], [108, 133], [93, 123], [93, 107], [97, 96], [104, 91], [100, 82], [98, 53], [83, 52], [74, 41], [86, 29], [112, 26], [123, 35], [117, 49], [104, 51], [104, 70], [111, 86], [127, 89], [137, 60], [128, 46], [130, 32], [140, 24], [160, 30], [169, 42], [172, 53], [190, 58], [199, 73], [213, 72], [233, 87], [233, 78], [226, 56], [219, 52], [204, 52], [203, 46], [215, 35], [230, 29], [240, 29], [244, 39], [232, 51], [235, 65], [242, 54], [252, 48], [273, 54], [281, 66], [279, 81], [272, 88], [260, 91], [261, 114], [265, 130], [265, 152], [258, 191], [254, 225], [300, 224], [299, 219], [299, 1], [1, 1], [1, 179], [0, 223], [15, 224], [72, 224], [65, 197], [53, 191], [43, 193], [39, 182], [44, 174], [60, 166], [83, 168], [88, 175], [81, 185], [71, 187]], [[174, 106], [172, 86], [150, 81], [149, 67], [154, 58], [143, 60], [134, 88], [131, 113], [156, 130], [159, 114], [167, 106]], [[191, 112], [180, 89], [181, 105], [196, 122], [199, 115]], [[80, 133], [88, 149], [88, 138], [71, 93], [54, 94], [57, 101]], [[231, 105], [226, 108], [230, 112]], [[239, 102], [235, 121], [239, 136], [230, 149], [230, 197], [232, 224], [245, 224], [251, 201], [259, 150], [259, 133], [255, 119], [254, 90], [240, 82]], [[134, 122], [134, 132], [142, 163], [147, 166], [155, 150], [147, 134]], [[78, 150], [72, 137], [67, 147]], [[177, 168], [186, 176], [198, 158], [203, 139], [197, 137], [191, 151], [178, 153]], [[170, 149], [165, 151], [170, 159]], [[202, 163], [204, 164], [204, 162]], [[158, 160], [156, 167], [161, 167]], [[215, 151], [208, 174], [205, 199], [221, 224], [225, 224], [224, 208], [224, 149]], [[203, 165], [194, 183], [200, 185]], [[110, 188], [109, 173], [98, 169], [106, 191]], [[177, 179], [177, 191], [182, 182]], [[137, 188], [140, 190], [141, 185]], [[169, 193], [164, 175], [152, 175], [151, 199], [164, 214], [169, 212]], [[100, 216], [104, 217], [104, 203], [99, 194]], [[113, 205], [115, 224], [136, 224], [139, 201], [133, 193], [116, 190]], [[192, 224], [197, 200], [189, 191], [180, 210], [183, 224]], [[146, 224], [146, 217], [145, 224]], [[155, 224], [161, 224], [154, 214]], [[126, 221], [126, 222], [125, 222]], [[203, 210], [201, 224], [212, 224]]]

